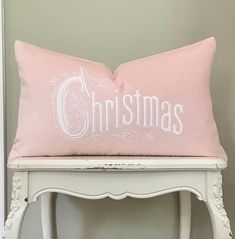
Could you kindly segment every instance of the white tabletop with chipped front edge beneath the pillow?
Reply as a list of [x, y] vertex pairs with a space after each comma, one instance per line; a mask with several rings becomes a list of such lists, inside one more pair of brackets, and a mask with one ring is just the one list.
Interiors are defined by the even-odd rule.
[[14, 170], [174, 170], [224, 169], [227, 161], [209, 157], [73, 156], [25, 157], [8, 162]]

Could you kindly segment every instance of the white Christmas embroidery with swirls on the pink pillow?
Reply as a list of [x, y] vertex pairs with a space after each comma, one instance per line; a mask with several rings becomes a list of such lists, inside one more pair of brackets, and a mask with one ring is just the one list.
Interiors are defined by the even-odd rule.
[[[96, 79], [82, 68], [76, 72], [68, 78], [63, 74], [66, 78], [53, 103], [59, 127], [68, 137], [105, 134], [133, 142], [139, 138], [156, 140], [159, 130], [182, 133], [182, 104], [142, 95], [139, 89], [122, 95], [110, 79]], [[110, 98], [105, 99], [104, 94]]]

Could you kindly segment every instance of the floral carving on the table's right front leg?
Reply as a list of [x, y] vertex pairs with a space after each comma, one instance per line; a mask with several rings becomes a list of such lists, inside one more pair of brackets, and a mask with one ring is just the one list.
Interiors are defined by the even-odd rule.
[[213, 196], [215, 199], [215, 206], [219, 212], [223, 225], [230, 230], [230, 221], [224, 209], [222, 183], [223, 178], [222, 174], [220, 173], [219, 175], [216, 176], [214, 181]]

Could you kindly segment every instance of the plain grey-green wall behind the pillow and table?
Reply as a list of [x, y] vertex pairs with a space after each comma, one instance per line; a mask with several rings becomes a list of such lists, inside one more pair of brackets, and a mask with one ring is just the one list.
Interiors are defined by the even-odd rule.
[[[215, 36], [211, 89], [221, 142], [229, 156], [224, 200], [235, 231], [234, 12], [234, 0], [5, 1], [8, 152], [15, 135], [19, 97], [15, 39], [104, 62], [115, 69], [125, 61]], [[8, 175], [9, 202], [11, 172]], [[56, 207], [58, 239], [176, 239], [178, 235], [177, 194], [118, 202], [59, 195]], [[24, 239], [42, 238], [39, 202], [27, 211], [22, 233]], [[196, 199], [192, 238], [212, 238], [208, 212]]]

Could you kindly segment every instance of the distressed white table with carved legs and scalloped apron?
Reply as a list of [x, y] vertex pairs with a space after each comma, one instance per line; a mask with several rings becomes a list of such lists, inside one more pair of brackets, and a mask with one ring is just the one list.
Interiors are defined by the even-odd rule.
[[12, 161], [12, 202], [3, 238], [20, 238], [27, 207], [41, 197], [43, 238], [54, 238], [52, 193], [85, 199], [150, 198], [180, 192], [180, 239], [190, 238], [191, 195], [209, 210], [214, 239], [230, 239], [223, 206], [222, 175], [227, 162], [202, 157], [34, 157]]

